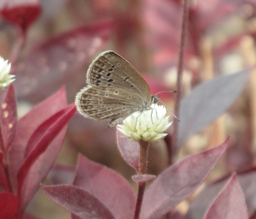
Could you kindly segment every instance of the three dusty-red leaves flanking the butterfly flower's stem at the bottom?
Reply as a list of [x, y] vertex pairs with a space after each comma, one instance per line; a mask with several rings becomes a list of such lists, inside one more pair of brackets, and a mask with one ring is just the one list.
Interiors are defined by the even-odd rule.
[[[188, 156], [162, 172], [145, 192], [141, 219], [155, 219], [171, 211], [194, 192], [224, 153], [222, 145]], [[42, 186], [53, 201], [82, 218], [131, 219], [135, 195], [118, 173], [79, 157], [73, 185]]]

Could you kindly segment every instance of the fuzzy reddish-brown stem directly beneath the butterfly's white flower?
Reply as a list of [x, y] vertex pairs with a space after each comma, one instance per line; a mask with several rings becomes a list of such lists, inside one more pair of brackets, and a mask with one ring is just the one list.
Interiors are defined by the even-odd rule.
[[[140, 140], [139, 144], [140, 144], [139, 174], [146, 174], [147, 173], [147, 155], [148, 155], [149, 142]], [[135, 207], [133, 219], [139, 218], [146, 184], [147, 184], [146, 182], [139, 183], [138, 195], [137, 195], [137, 201], [136, 201], [136, 207]]]

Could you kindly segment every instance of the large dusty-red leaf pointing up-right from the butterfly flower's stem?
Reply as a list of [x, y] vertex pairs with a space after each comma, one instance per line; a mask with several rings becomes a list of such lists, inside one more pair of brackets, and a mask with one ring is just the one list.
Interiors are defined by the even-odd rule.
[[194, 192], [221, 158], [229, 138], [218, 147], [190, 155], [161, 173], [145, 192], [141, 218], [155, 219]]

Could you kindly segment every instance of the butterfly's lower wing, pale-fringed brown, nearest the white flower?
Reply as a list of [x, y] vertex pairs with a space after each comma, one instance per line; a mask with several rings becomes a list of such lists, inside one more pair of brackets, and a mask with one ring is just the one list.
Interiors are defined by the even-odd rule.
[[79, 111], [97, 120], [126, 118], [141, 110], [144, 105], [144, 99], [140, 95], [109, 86], [84, 88], [77, 97]]

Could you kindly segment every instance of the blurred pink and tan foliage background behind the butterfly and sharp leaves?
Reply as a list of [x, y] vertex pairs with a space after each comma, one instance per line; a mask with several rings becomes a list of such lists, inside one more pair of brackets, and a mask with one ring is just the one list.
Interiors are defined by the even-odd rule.
[[[11, 73], [16, 75], [19, 115], [62, 85], [68, 103], [74, 102], [76, 93], [86, 86], [90, 63], [105, 50], [127, 59], [143, 75], [152, 94], [176, 89], [182, 1], [16, 0], [0, 4], [0, 55], [9, 59]], [[24, 10], [26, 22], [10, 19], [13, 12], [6, 5], [14, 11], [15, 7], [29, 5], [31, 8]], [[24, 16], [22, 10], [19, 12]], [[255, 0], [191, 0], [182, 98], [211, 78], [255, 68], [255, 37]], [[230, 135], [225, 158], [208, 181], [255, 164], [255, 74], [252, 71], [246, 89], [225, 114], [182, 144], [174, 161], [219, 145]], [[170, 109], [174, 109], [174, 98], [175, 94], [161, 95]], [[135, 172], [120, 156], [116, 128], [106, 128], [107, 123], [77, 113], [69, 122], [56, 162], [75, 166], [78, 153], [82, 153], [113, 168], [133, 184], [131, 176]], [[150, 174], [157, 175], [166, 168], [166, 143], [170, 139], [171, 134], [150, 147]], [[41, 218], [69, 218], [66, 211], [56, 210], [55, 204], [41, 196], [39, 191], [29, 211]], [[185, 213], [188, 206], [189, 200], [177, 209]]]

